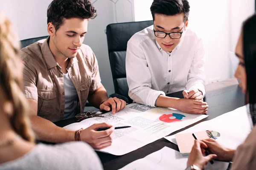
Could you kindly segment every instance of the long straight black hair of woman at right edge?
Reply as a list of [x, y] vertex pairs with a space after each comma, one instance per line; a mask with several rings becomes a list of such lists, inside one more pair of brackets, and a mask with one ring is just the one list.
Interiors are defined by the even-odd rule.
[[[247, 76], [247, 94], [249, 94], [250, 112], [253, 124], [256, 124], [256, 14], [244, 21], [243, 52]], [[255, 115], [254, 115], [255, 114]]]

